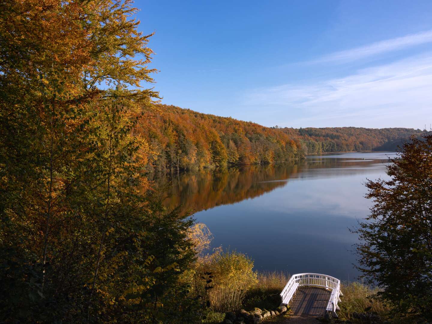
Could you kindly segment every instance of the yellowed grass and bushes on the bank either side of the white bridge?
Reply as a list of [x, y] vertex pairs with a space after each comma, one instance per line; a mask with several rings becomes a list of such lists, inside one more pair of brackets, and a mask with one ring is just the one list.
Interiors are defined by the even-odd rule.
[[[280, 305], [279, 294], [291, 277], [289, 273], [254, 271], [254, 261], [236, 251], [217, 248], [209, 253], [213, 235], [202, 223], [191, 227], [190, 238], [196, 246], [197, 261], [184, 280], [198, 294], [207, 296], [210, 312], [206, 323], [220, 323], [227, 311], [274, 310]], [[203, 273], [211, 273], [211, 287], [208, 290], [204, 287]], [[343, 283], [341, 290], [340, 320], [357, 322], [354, 314], [365, 311], [380, 316], [388, 313], [388, 308], [372, 297], [378, 292], [377, 289], [352, 282]]]

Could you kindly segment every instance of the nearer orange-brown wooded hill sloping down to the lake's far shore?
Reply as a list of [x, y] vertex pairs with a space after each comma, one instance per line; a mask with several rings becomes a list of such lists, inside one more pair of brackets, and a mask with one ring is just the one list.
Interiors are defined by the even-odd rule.
[[201, 169], [227, 164], [264, 164], [299, 159], [299, 139], [269, 127], [201, 114], [175, 106], [145, 110], [142, 131], [152, 170]]

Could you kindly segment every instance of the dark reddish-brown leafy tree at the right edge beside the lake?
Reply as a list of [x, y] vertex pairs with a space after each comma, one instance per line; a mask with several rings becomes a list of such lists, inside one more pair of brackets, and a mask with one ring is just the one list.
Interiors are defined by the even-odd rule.
[[432, 135], [405, 143], [387, 167], [390, 180], [368, 181], [375, 204], [355, 232], [358, 269], [400, 314], [432, 319]]

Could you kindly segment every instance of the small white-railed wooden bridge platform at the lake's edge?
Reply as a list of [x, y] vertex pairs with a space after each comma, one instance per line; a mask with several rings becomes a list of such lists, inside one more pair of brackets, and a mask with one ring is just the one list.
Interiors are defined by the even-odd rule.
[[340, 280], [319, 273], [297, 273], [291, 276], [280, 293], [282, 305], [289, 305], [295, 315], [337, 317], [340, 302]]

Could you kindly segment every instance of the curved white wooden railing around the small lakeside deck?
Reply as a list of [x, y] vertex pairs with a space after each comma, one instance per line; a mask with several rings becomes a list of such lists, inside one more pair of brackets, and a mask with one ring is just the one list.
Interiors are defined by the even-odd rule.
[[343, 296], [340, 291], [339, 279], [320, 273], [294, 274], [280, 293], [282, 304], [288, 305], [297, 290], [297, 287], [301, 286], [319, 287], [331, 290], [326, 311], [330, 312], [334, 317], [337, 317], [336, 311], [339, 310], [337, 302], [340, 302], [340, 296]]

